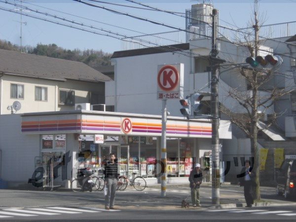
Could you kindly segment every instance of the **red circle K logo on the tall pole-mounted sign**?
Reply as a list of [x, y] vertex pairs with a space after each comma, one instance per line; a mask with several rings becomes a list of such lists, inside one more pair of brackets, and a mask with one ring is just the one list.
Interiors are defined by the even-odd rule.
[[176, 88], [179, 82], [178, 70], [171, 65], [163, 66], [157, 75], [157, 83], [164, 91], [171, 91]]

